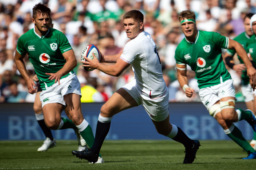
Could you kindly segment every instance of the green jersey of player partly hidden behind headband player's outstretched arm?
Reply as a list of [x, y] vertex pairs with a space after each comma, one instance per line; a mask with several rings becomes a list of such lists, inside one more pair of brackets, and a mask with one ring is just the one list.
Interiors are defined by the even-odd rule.
[[[237, 41], [238, 43], [240, 43], [243, 48], [245, 48], [246, 52], [247, 49], [246, 49], [246, 42], [250, 39], [249, 35], [246, 34], [246, 32], [243, 32], [241, 34], [239, 34], [237, 37], [234, 38], [235, 41]], [[231, 56], [234, 56], [236, 51], [235, 50], [227, 50], [227, 53]], [[243, 60], [240, 58], [240, 56], [238, 56], [238, 60], [240, 61], [240, 63], [244, 63]], [[242, 85], [247, 85], [249, 84], [249, 77], [247, 76], [247, 71], [244, 70], [242, 71], [243, 74], [241, 75], [241, 78], [242, 78]]]

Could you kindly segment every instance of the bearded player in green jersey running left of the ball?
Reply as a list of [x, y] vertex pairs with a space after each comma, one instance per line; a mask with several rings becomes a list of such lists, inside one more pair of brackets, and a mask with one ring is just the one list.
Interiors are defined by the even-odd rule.
[[[52, 130], [78, 130], [91, 147], [94, 136], [82, 115], [80, 83], [73, 71], [77, 65], [76, 57], [66, 36], [50, 28], [50, 12], [50, 8], [41, 3], [33, 7], [32, 22], [35, 27], [19, 38], [14, 60], [30, 94], [36, 93], [36, 85], [27, 74], [23, 61], [26, 54], [34, 66], [42, 88], [40, 100], [45, 124]], [[65, 108], [71, 120], [61, 117]], [[97, 163], [103, 162], [99, 155]]]

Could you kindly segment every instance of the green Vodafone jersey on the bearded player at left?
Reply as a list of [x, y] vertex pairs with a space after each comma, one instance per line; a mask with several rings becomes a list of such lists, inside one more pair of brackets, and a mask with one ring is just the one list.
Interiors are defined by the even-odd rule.
[[[44, 36], [38, 35], [35, 28], [30, 29], [18, 39], [17, 52], [22, 56], [28, 53], [29, 60], [34, 66], [42, 90], [54, 84], [54, 80], [49, 80], [49, 75], [45, 73], [56, 73], [66, 63], [62, 53], [72, 50], [66, 36], [53, 28], [49, 28]], [[70, 73], [62, 76], [67, 77]]]

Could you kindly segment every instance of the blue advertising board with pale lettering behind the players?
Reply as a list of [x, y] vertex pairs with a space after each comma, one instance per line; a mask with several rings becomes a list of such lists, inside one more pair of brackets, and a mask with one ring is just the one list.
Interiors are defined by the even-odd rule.
[[[82, 103], [84, 118], [93, 133], [104, 103]], [[237, 102], [236, 108], [246, 109]], [[192, 139], [229, 140], [218, 122], [210, 116], [202, 103], [169, 103], [170, 122], [179, 126]], [[67, 117], [65, 112], [62, 117]], [[235, 123], [247, 140], [253, 138], [253, 129], [244, 120]], [[38, 125], [33, 103], [0, 104], [0, 140], [45, 140]], [[73, 129], [52, 130], [55, 139], [76, 139]], [[168, 139], [156, 132], [150, 117], [142, 105], [122, 111], [111, 121], [106, 140], [116, 139]]]

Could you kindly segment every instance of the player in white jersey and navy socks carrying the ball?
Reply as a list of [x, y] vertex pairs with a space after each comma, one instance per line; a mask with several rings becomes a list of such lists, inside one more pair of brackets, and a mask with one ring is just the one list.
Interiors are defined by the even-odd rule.
[[115, 63], [114, 65], [103, 65], [98, 60], [87, 58], [87, 61], [82, 62], [83, 66], [112, 76], [121, 75], [132, 65], [135, 79], [117, 90], [101, 107], [93, 146], [84, 151], [72, 151], [78, 158], [96, 162], [113, 115], [142, 104], [159, 134], [184, 145], [186, 155], [183, 163], [192, 163], [195, 159], [199, 141], [188, 138], [179, 127], [169, 122], [169, 92], [163, 79], [156, 44], [149, 33], [144, 31], [143, 17], [137, 10], [128, 11], [123, 16], [124, 28], [131, 41], [124, 46], [122, 53], [113, 56], [101, 54], [100, 62]]

